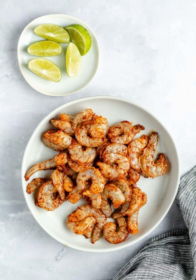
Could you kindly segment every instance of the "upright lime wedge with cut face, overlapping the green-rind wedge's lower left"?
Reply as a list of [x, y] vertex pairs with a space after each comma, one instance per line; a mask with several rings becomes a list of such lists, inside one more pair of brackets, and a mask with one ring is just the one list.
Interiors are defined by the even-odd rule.
[[74, 77], [78, 74], [81, 67], [81, 55], [74, 43], [69, 43], [66, 49], [66, 71], [69, 77]]

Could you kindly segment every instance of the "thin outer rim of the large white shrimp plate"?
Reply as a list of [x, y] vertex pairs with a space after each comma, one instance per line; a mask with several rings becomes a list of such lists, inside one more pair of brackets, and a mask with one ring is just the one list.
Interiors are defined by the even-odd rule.
[[[27, 150], [28, 150], [28, 146], [30, 145], [30, 142], [31, 142], [31, 139], [32, 137], [34, 136], [34, 134], [37, 133], [37, 131], [39, 130], [39, 127], [45, 122], [47, 121], [48, 119], [48, 116], [51, 114], [51, 113], [54, 113], [55, 114], [55, 111], [58, 110], [58, 109], [61, 109], [64, 107], [64, 105], [73, 105], [74, 103], [77, 103], [78, 101], [84, 101], [84, 100], [92, 100], [94, 98], [103, 98], [103, 99], [112, 99], [112, 100], [119, 100], [119, 101], [123, 101], [123, 102], [126, 102], [126, 103], [129, 103], [131, 105], [134, 105], [134, 106], [137, 106], [139, 107], [140, 109], [144, 110], [145, 112], [149, 113], [156, 121], [158, 121], [160, 123], [160, 125], [165, 129], [165, 131], [168, 133], [169, 137], [171, 138], [171, 141], [174, 145], [174, 148], [175, 148], [175, 153], [176, 153], [176, 158], [177, 158], [177, 163], [178, 163], [178, 168], [177, 168], [177, 176], [176, 176], [176, 185], [175, 185], [175, 191], [173, 193], [173, 196], [171, 197], [171, 200], [170, 200], [170, 203], [167, 207], [167, 209], [164, 211], [164, 213], [162, 214], [162, 216], [160, 217], [160, 219], [156, 222], [156, 224], [150, 228], [147, 232], [145, 232], [143, 235], [139, 236], [138, 239], [136, 240], [133, 240], [132, 242], [130, 242], [130, 244], [123, 244], [121, 243], [121, 246], [119, 246], [118, 248], [117, 247], [111, 247], [111, 248], [106, 248], [106, 249], [99, 249], [99, 248], [91, 248], [91, 249], [86, 249], [85, 248], [81, 248], [80, 246], [74, 246], [74, 245], [68, 245], [67, 243], [65, 244], [65, 242], [62, 242], [62, 240], [56, 238], [52, 233], [48, 232], [48, 230], [40, 224], [39, 221], [37, 221], [36, 217], [34, 216], [34, 212], [31, 211], [31, 206], [30, 206], [30, 203], [28, 203], [28, 200], [26, 199], [25, 197], [25, 190], [26, 190], [26, 186], [23, 186], [23, 180], [24, 180], [24, 175], [22, 174], [22, 171], [24, 169], [24, 159], [26, 157], [26, 153], [27, 153]], [[135, 243], [137, 243], [138, 241], [142, 240], [143, 238], [145, 238], [145, 236], [147, 236], [150, 232], [152, 232], [159, 224], [160, 222], [164, 219], [164, 217], [167, 215], [169, 209], [171, 208], [171, 205], [175, 199], [175, 196], [176, 196], [176, 193], [178, 191], [178, 187], [179, 187], [179, 181], [180, 181], [180, 160], [179, 160], [179, 153], [178, 153], [178, 149], [177, 149], [177, 146], [175, 144], [175, 141], [173, 139], [173, 137], [171, 136], [171, 133], [168, 131], [168, 129], [162, 124], [161, 121], [159, 121], [151, 112], [149, 112], [148, 109], [145, 109], [143, 106], [135, 103], [135, 102], [132, 102], [131, 100], [127, 100], [125, 98], [120, 98], [120, 97], [116, 97], [116, 96], [107, 96], [107, 95], [95, 95], [95, 96], [89, 96], [89, 97], [84, 97], [84, 98], [77, 98], [77, 99], [74, 99], [70, 102], [66, 102], [60, 106], [58, 106], [56, 109], [52, 110], [49, 114], [47, 114], [46, 117], [44, 117], [42, 119], [42, 121], [40, 121], [40, 123], [36, 126], [36, 128], [34, 129], [32, 135], [30, 136], [29, 140], [28, 140], [28, 143], [26, 145], [26, 148], [25, 148], [25, 152], [23, 154], [23, 158], [22, 158], [22, 164], [21, 164], [21, 185], [22, 185], [22, 190], [23, 190], [23, 195], [25, 197], [25, 201], [27, 203], [27, 206], [28, 206], [28, 209], [29, 211], [31, 212], [32, 216], [34, 217], [34, 219], [36, 220], [36, 222], [40, 225], [41, 228], [43, 228], [43, 230], [45, 232], [47, 232], [51, 237], [53, 237], [55, 240], [57, 240], [58, 242], [62, 243], [63, 245], [67, 246], [67, 247], [70, 247], [70, 248], [73, 248], [73, 249], [76, 249], [76, 250], [79, 250], [79, 251], [86, 251], [86, 252], [96, 252], [96, 253], [99, 253], [99, 252], [110, 252], [110, 251], [116, 251], [116, 250], [120, 250], [120, 249], [123, 249], [125, 247], [129, 247]]]

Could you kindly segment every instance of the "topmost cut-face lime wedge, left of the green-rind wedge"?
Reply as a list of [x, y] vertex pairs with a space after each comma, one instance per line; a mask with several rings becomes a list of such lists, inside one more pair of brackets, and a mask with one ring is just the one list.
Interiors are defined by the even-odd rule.
[[68, 43], [70, 36], [67, 31], [59, 25], [42, 24], [38, 25], [34, 32], [47, 40], [55, 41], [57, 43]]

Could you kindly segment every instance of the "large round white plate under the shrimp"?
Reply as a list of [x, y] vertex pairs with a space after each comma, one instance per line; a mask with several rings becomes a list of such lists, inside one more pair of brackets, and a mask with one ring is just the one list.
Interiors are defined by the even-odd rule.
[[[156, 153], [164, 152], [167, 156], [169, 167], [164, 176], [155, 179], [143, 178], [138, 182], [138, 187], [147, 194], [147, 204], [139, 211], [138, 224], [139, 232], [135, 235], [129, 235], [123, 243], [110, 244], [104, 237], [94, 245], [89, 239], [76, 235], [66, 227], [68, 214], [77, 209], [77, 205], [83, 205], [85, 202], [81, 199], [77, 204], [64, 202], [58, 209], [47, 212], [44, 209], [36, 207], [36, 194], [27, 194], [24, 175], [33, 164], [52, 158], [56, 152], [47, 148], [41, 139], [42, 133], [53, 128], [49, 120], [58, 118], [60, 113], [76, 114], [82, 109], [92, 108], [98, 115], [107, 117], [109, 124], [128, 120], [134, 124], [142, 124], [145, 131], [142, 134], [149, 134], [154, 130], [159, 133], [159, 144]], [[53, 112], [40, 122], [28, 141], [22, 162], [22, 188], [28, 208], [40, 226], [56, 240], [66, 246], [93, 252], [104, 252], [118, 250], [127, 247], [141, 240], [151, 232], [165, 217], [175, 198], [179, 184], [179, 156], [175, 143], [168, 133], [167, 129], [151, 113], [141, 108], [133, 102], [109, 96], [96, 96], [82, 98], [68, 102]], [[52, 171], [40, 171], [34, 174], [29, 181], [36, 177], [49, 177]]]

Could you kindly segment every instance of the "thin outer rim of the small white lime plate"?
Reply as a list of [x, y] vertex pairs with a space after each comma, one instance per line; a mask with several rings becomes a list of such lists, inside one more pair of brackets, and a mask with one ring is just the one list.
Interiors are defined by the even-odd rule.
[[[95, 38], [97, 50], [98, 50], [98, 52], [97, 52], [97, 66], [96, 66], [94, 75], [89, 79], [89, 81], [88, 81], [87, 83], [85, 83], [84, 86], [80, 87], [80, 88], [77, 89], [77, 90], [73, 90], [73, 91], [71, 91], [71, 92], [69, 92], [69, 93], [66, 93], [66, 94], [58, 94], [58, 93], [57, 93], [57, 94], [54, 95], [54, 94], [47, 93], [46, 91], [39, 91], [39, 90], [36, 90], [35, 86], [33, 86], [31, 83], [29, 83], [29, 82], [27, 81], [27, 79], [25, 78], [25, 76], [24, 76], [24, 74], [23, 74], [23, 71], [22, 71], [22, 69], [21, 69], [21, 64], [19, 63], [19, 56], [20, 56], [20, 54], [19, 54], [19, 42], [20, 42], [20, 40], [21, 40], [21, 36], [22, 36], [23, 32], [28, 28], [28, 26], [29, 26], [33, 21], [36, 21], [36, 20], [38, 20], [38, 19], [41, 18], [41, 17], [47, 17], [47, 16], [65, 16], [65, 17], [69, 17], [69, 18], [71, 18], [71, 19], [73, 19], [73, 20], [79, 20], [79, 21], [81, 21], [84, 25], [86, 25], [87, 29], [89, 29], [89, 30], [91, 31], [91, 33], [93, 34], [93, 36], [94, 36], [94, 38]], [[41, 38], [41, 37], [40, 37], [40, 38]], [[44, 38], [42, 38], [42, 39], [44, 39]], [[97, 37], [96, 37], [94, 31], [92, 30], [92, 28], [91, 28], [87, 23], [85, 23], [84, 21], [82, 21], [82, 20], [79, 19], [78, 17], [73, 17], [73, 16], [70, 16], [70, 15], [62, 14], [62, 13], [54, 13], [54, 14], [48, 14], [48, 15], [43, 15], [43, 16], [40, 16], [40, 17], [36, 17], [35, 19], [33, 19], [32, 21], [30, 21], [30, 22], [25, 26], [25, 28], [22, 30], [21, 35], [20, 35], [20, 37], [19, 37], [19, 39], [18, 39], [18, 44], [17, 44], [17, 60], [18, 60], [18, 65], [19, 65], [19, 68], [20, 68], [20, 71], [21, 71], [21, 74], [22, 74], [23, 78], [24, 78], [25, 81], [28, 83], [28, 85], [31, 86], [34, 90], [36, 90], [37, 92], [39, 92], [39, 93], [41, 93], [41, 94], [49, 95], [49, 96], [66, 96], [66, 95], [74, 94], [74, 93], [76, 93], [76, 92], [79, 92], [79, 91], [83, 90], [86, 86], [89, 85], [89, 83], [90, 83], [90, 82], [92, 81], [92, 79], [95, 77], [96, 72], [97, 72], [97, 69], [98, 69], [98, 67], [99, 67], [99, 63], [100, 63], [100, 47], [99, 47], [99, 43], [98, 43], [98, 40], [97, 40]]]

